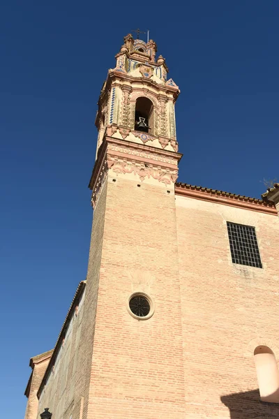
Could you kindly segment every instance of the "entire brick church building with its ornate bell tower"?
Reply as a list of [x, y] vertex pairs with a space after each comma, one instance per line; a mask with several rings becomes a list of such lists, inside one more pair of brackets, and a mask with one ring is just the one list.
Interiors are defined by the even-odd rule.
[[279, 417], [279, 184], [176, 182], [179, 87], [156, 52], [128, 34], [100, 92], [86, 281], [30, 360], [25, 419]]

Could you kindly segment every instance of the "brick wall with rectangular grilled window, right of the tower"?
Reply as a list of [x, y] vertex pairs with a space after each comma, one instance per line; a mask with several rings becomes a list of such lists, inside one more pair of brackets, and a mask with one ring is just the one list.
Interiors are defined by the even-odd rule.
[[[187, 418], [278, 416], [253, 360], [260, 344], [279, 360], [278, 217], [176, 196], [176, 219]], [[255, 226], [263, 269], [232, 264], [226, 221]]]

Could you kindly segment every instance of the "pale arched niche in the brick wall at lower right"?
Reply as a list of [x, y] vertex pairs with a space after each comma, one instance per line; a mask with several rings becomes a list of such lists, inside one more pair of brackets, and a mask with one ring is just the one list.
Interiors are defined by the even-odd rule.
[[257, 346], [254, 360], [262, 402], [279, 403], [279, 372], [276, 356], [269, 346]]

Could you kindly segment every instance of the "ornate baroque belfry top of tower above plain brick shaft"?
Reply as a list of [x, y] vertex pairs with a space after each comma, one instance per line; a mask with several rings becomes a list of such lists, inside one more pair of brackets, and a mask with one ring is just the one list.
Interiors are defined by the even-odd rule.
[[170, 189], [176, 180], [180, 155], [174, 103], [179, 88], [167, 80], [165, 59], [162, 55], [156, 59], [156, 51], [154, 41], [145, 43], [128, 34], [116, 54], [116, 67], [103, 84], [96, 115], [96, 165], [89, 185], [93, 208], [107, 174], [133, 173], [140, 183], [153, 179]]

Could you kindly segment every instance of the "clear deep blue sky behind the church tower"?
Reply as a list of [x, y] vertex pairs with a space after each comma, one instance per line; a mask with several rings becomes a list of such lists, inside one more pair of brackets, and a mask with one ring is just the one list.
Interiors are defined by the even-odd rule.
[[3, 417], [23, 417], [29, 358], [86, 277], [96, 103], [123, 36], [149, 28], [181, 89], [179, 180], [259, 197], [279, 178], [278, 17], [278, 0], [2, 3]]

